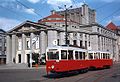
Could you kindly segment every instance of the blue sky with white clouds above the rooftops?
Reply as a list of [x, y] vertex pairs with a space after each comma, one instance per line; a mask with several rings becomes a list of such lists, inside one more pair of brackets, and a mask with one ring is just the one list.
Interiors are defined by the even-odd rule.
[[120, 0], [0, 0], [0, 29], [8, 31], [26, 20], [37, 22], [51, 10], [59, 11], [58, 6], [76, 8], [83, 3], [96, 10], [97, 23], [120, 26]]

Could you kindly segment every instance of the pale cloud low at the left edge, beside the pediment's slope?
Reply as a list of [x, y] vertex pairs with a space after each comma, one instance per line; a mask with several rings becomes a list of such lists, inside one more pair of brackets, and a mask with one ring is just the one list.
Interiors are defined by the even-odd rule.
[[0, 17], [0, 28], [2, 28], [5, 31], [8, 31], [14, 28], [19, 23], [21, 22], [15, 19], [8, 19], [8, 18]]

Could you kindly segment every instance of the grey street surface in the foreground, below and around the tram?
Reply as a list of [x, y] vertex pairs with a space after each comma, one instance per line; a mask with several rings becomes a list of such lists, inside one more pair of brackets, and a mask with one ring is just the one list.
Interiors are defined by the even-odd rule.
[[49, 74], [48, 76], [45, 68], [1, 69], [0, 82], [120, 82], [120, 63], [110, 69], [87, 73]]

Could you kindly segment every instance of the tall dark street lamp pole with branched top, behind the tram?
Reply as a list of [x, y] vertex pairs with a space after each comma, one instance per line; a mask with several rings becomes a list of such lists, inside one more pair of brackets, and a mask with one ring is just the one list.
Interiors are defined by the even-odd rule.
[[66, 5], [64, 5], [64, 8], [62, 8], [62, 7], [58, 7], [59, 9], [64, 9], [64, 11], [65, 11], [65, 44], [66, 45], [69, 45], [68, 44], [68, 32], [67, 32], [67, 10], [69, 9], [69, 8], [72, 8], [72, 6], [70, 6], [70, 7], [66, 7]]

